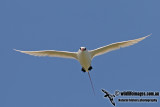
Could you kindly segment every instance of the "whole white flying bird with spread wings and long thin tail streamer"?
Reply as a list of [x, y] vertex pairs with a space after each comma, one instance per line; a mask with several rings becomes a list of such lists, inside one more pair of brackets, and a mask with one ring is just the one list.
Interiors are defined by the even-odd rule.
[[[89, 74], [89, 71], [92, 69], [92, 66], [91, 66], [92, 59], [95, 56], [102, 55], [104, 53], [108, 53], [110, 51], [117, 50], [119, 48], [134, 45], [134, 44], [142, 41], [143, 39], [147, 38], [150, 35], [147, 35], [142, 38], [134, 39], [134, 40], [112, 43], [112, 44], [109, 44], [109, 45], [106, 45], [106, 46], [103, 46], [103, 47], [100, 47], [100, 48], [97, 48], [94, 50], [87, 50], [86, 47], [80, 47], [78, 52], [56, 51], [56, 50], [42, 50], [42, 51], [21, 51], [21, 50], [16, 50], [16, 49], [14, 49], [14, 50], [19, 51], [21, 53], [33, 55], [33, 56], [62, 57], [62, 58], [72, 58], [72, 59], [78, 60], [82, 66], [81, 70], [83, 72], [88, 72], [90, 82], [92, 85], [92, 89], [94, 92], [94, 87], [93, 87], [92, 80], [91, 80], [91, 77]], [[94, 92], [94, 94], [95, 94], [95, 92]]]

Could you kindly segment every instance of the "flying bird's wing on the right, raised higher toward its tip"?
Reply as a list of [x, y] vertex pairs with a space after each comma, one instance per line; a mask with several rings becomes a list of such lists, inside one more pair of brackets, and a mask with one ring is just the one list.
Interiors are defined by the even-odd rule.
[[[151, 34], [150, 34], [151, 35]], [[148, 36], [150, 36], [148, 35]], [[130, 45], [134, 45], [140, 41], [142, 41], [143, 39], [145, 39], [146, 37], [142, 37], [142, 38], [138, 38], [138, 39], [134, 39], [134, 40], [129, 40], [129, 41], [122, 41], [122, 42], [116, 42], [116, 43], [112, 43], [109, 44], [107, 46], [103, 46], [94, 50], [89, 51], [91, 53], [91, 58], [98, 56], [98, 55], [102, 55], [104, 53], [119, 49], [119, 48], [123, 48], [123, 47], [127, 47]]]

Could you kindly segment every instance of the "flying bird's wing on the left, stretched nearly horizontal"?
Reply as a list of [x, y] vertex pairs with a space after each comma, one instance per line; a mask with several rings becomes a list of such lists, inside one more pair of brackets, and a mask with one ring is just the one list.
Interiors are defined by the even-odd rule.
[[43, 50], [43, 51], [15, 51], [33, 55], [33, 56], [49, 56], [49, 57], [62, 57], [62, 58], [73, 58], [77, 59], [77, 53], [76, 52], [67, 52], [67, 51], [55, 51], [55, 50]]

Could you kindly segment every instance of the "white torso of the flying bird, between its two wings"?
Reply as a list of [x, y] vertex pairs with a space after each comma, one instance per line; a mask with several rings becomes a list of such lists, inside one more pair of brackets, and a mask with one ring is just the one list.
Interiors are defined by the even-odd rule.
[[88, 52], [88, 50], [86, 51], [79, 50], [77, 57], [81, 66], [88, 72], [88, 68], [91, 66], [91, 54]]

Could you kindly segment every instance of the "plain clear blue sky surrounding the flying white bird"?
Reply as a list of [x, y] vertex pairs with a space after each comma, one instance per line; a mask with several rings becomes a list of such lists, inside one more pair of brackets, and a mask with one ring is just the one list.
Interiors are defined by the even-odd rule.
[[[159, 0], [0, 0], [0, 107], [113, 107], [101, 89], [160, 91]], [[88, 50], [152, 36], [92, 61], [34, 57], [14, 51]], [[120, 103], [158, 107], [160, 103]], [[133, 97], [130, 97], [133, 98]], [[155, 97], [147, 97], [155, 98]], [[159, 97], [158, 100], [160, 100]]]

